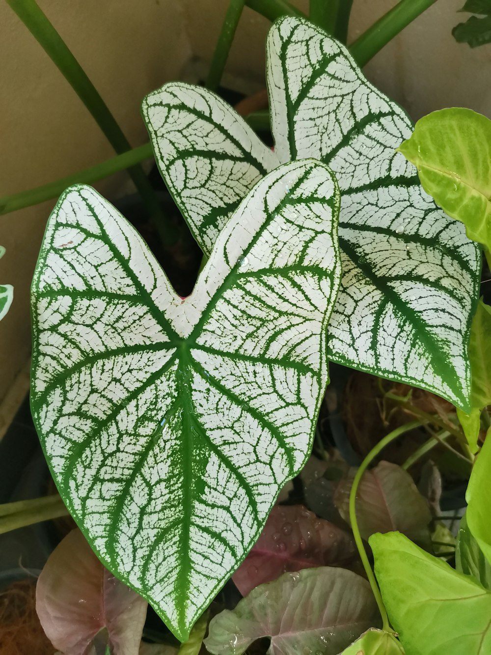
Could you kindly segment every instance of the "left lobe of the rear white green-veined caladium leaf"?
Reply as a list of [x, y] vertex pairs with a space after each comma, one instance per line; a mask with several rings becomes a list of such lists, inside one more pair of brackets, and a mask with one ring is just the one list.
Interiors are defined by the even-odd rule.
[[143, 119], [175, 202], [209, 256], [221, 229], [278, 157], [224, 100], [200, 86], [170, 83], [149, 94]]

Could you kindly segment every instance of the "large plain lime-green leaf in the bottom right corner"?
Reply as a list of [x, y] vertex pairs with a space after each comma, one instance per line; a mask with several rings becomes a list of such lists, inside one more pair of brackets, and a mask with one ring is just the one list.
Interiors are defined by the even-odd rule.
[[408, 655], [491, 652], [491, 593], [403, 534], [373, 534], [375, 574]]

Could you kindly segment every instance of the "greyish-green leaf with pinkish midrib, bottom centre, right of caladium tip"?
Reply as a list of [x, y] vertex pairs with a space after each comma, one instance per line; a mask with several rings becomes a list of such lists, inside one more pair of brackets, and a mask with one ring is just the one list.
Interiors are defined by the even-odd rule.
[[346, 569], [304, 569], [261, 584], [237, 607], [209, 622], [206, 649], [242, 655], [271, 637], [269, 655], [340, 652], [373, 625], [376, 605], [366, 580]]

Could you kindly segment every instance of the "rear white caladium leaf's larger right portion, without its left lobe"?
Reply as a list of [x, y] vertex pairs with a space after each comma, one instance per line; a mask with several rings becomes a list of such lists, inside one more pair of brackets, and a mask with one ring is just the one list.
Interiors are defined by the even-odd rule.
[[305, 20], [276, 22], [267, 54], [278, 158], [329, 164], [341, 191], [343, 279], [329, 359], [469, 408], [481, 256], [395, 152], [412, 132], [409, 117]]

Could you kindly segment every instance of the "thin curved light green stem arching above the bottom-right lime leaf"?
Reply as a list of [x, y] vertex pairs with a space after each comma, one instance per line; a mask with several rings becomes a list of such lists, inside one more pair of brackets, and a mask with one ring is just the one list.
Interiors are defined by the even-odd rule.
[[376, 582], [374, 573], [372, 571], [372, 567], [370, 566], [370, 562], [367, 556], [367, 551], [365, 550], [365, 546], [363, 546], [363, 540], [361, 539], [361, 534], [356, 520], [356, 508], [355, 508], [356, 493], [358, 491], [358, 485], [360, 483], [361, 477], [363, 477], [363, 474], [365, 473], [371, 462], [374, 460], [374, 458], [378, 455], [378, 453], [380, 453], [380, 451], [382, 451], [382, 449], [384, 449], [386, 445], [388, 445], [391, 441], [401, 436], [401, 434], [405, 434], [405, 432], [414, 430], [414, 428], [418, 428], [420, 425], [424, 424], [425, 422], [426, 421], [411, 421], [410, 423], [406, 423], [405, 425], [401, 425], [399, 428], [392, 430], [392, 432], [390, 432], [387, 436], [381, 439], [371, 449], [371, 451], [369, 452], [367, 457], [365, 457], [363, 462], [361, 462], [361, 465], [356, 472], [355, 479], [353, 480], [353, 485], [350, 493], [350, 523], [353, 531], [353, 536], [355, 538], [355, 543], [358, 548], [361, 561], [363, 562], [363, 567], [365, 568], [368, 581], [372, 588], [376, 604], [378, 605], [378, 609], [380, 610], [380, 616], [382, 616], [382, 629], [385, 630], [386, 632], [391, 632], [389, 618], [387, 616], [387, 611], [384, 605], [384, 601], [382, 601], [382, 595], [380, 594], [380, 589], [378, 588], [378, 584]]

